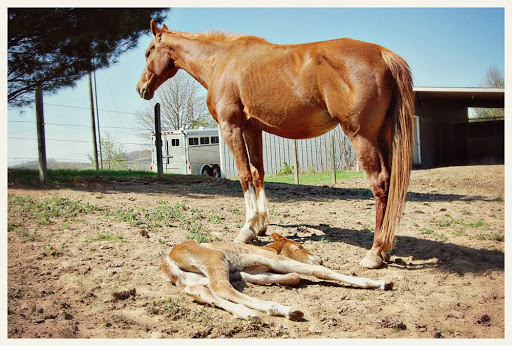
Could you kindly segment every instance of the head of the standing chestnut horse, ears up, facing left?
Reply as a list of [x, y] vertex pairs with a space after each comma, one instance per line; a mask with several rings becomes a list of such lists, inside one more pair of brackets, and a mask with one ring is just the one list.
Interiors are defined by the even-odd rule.
[[145, 100], [151, 100], [155, 90], [178, 72], [178, 67], [174, 65], [174, 60], [169, 55], [169, 51], [162, 44], [162, 34], [169, 32], [169, 29], [165, 24], [162, 29], [159, 29], [153, 19], [150, 27], [155, 37], [146, 49], [146, 67], [144, 67], [139, 83], [137, 83], [137, 92]]

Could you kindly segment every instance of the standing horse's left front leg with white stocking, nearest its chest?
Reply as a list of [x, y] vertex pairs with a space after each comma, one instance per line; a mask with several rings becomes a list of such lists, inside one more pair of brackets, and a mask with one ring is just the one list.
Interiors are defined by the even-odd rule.
[[235, 243], [249, 243], [259, 233], [260, 216], [258, 213], [258, 198], [253, 176], [249, 167], [249, 157], [241, 125], [235, 121], [222, 120], [219, 117], [219, 130], [224, 142], [235, 159], [238, 177], [244, 192], [245, 225], [234, 239]]

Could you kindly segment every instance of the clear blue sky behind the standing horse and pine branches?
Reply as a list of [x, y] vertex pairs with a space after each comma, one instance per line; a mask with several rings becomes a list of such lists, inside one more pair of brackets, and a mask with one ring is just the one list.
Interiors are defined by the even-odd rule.
[[[165, 21], [179, 31], [262, 36], [274, 43], [351, 37], [386, 46], [405, 58], [418, 87], [478, 87], [487, 69], [504, 72], [504, 10], [501, 8], [174, 8]], [[148, 23], [149, 31], [149, 23]], [[102, 134], [127, 151], [149, 149], [137, 113], [145, 107], [135, 86], [151, 41], [98, 71]], [[47, 157], [87, 161], [92, 152], [88, 81], [46, 95]], [[35, 111], [8, 109], [8, 165], [37, 159]]]

